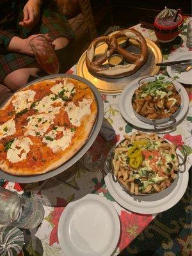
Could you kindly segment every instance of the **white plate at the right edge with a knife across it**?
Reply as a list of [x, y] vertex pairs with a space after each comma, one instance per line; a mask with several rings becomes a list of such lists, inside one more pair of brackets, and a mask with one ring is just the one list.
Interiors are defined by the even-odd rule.
[[[179, 52], [174, 53], [173, 56], [168, 58], [168, 61], [177, 61], [177, 60], [189, 60], [192, 59], [192, 52]], [[166, 67], [166, 71], [170, 77], [179, 77], [176, 80], [182, 84], [192, 84], [192, 69], [188, 72], [174, 72], [172, 67]]]

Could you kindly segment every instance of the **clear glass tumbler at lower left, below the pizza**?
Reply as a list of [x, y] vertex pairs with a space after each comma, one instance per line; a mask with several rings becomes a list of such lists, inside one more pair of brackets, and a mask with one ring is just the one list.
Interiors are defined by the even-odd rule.
[[0, 224], [32, 229], [44, 218], [40, 202], [0, 187]]

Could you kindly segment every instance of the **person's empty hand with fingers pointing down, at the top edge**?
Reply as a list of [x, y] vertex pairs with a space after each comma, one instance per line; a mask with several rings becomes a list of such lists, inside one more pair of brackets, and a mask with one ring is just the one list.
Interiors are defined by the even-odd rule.
[[23, 20], [19, 25], [25, 28], [33, 28], [40, 17], [41, 0], [29, 0], [23, 9]]

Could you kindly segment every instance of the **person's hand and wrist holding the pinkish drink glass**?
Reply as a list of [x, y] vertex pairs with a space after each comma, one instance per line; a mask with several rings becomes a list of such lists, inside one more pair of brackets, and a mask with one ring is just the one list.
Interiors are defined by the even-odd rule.
[[[43, 34], [38, 34], [38, 35], [43, 35]], [[33, 50], [31, 49], [30, 41], [35, 36], [37, 35], [31, 35], [25, 39], [19, 38], [18, 36], [13, 36], [12, 40], [10, 41], [10, 44], [8, 45], [8, 51], [19, 52], [19, 53], [33, 56]], [[45, 34], [44, 36], [47, 38], [47, 40], [51, 44], [51, 37], [49, 36], [49, 34]]]

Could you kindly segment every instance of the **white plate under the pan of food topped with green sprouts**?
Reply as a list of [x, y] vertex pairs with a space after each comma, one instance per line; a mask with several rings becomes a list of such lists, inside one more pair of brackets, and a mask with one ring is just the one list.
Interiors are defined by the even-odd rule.
[[[135, 127], [138, 127], [140, 129], [147, 129], [150, 131], [160, 131], [160, 128], [154, 129], [154, 125], [146, 124], [142, 122], [140, 119], [138, 119], [136, 115], [134, 115], [132, 109], [132, 95], [134, 94], [134, 91], [139, 87], [138, 81], [140, 79], [142, 79], [142, 77], [135, 79], [134, 81], [129, 83], [121, 93], [118, 101], [120, 113], [129, 124], [132, 124]], [[166, 77], [166, 80], [171, 81], [172, 79], [170, 79], [170, 77]], [[175, 116], [176, 124], [178, 124], [188, 112], [189, 97], [188, 93], [186, 92], [186, 89], [180, 83], [178, 83], [177, 81], [173, 81], [173, 84], [175, 85], [175, 88], [177, 89], [181, 97], [180, 111], [179, 114]], [[167, 122], [166, 124], [169, 124], [169, 122]]]

